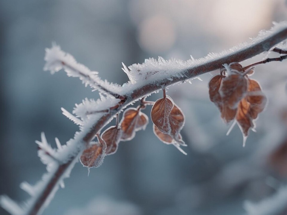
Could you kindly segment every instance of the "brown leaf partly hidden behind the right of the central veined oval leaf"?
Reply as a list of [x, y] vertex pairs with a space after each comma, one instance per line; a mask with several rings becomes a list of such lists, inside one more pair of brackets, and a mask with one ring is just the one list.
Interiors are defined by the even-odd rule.
[[170, 120], [170, 127], [171, 127], [170, 135], [177, 142], [184, 144], [184, 142], [178, 138], [178, 135], [182, 127], [184, 126], [185, 117], [182, 111], [180, 110], [180, 108], [178, 108], [178, 106], [175, 104], [170, 112], [169, 120]]

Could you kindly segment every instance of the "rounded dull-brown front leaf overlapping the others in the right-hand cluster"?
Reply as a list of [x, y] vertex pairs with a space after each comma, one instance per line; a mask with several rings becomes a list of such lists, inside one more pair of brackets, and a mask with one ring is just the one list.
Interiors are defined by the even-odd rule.
[[247, 92], [247, 78], [241, 74], [231, 74], [222, 79], [219, 93], [223, 105], [230, 109], [236, 109], [239, 101], [245, 97]]

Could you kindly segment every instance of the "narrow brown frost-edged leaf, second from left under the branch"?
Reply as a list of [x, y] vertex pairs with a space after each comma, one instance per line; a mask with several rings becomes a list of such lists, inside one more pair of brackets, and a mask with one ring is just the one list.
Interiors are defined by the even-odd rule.
[[106, 155], [116, 153], [122, 133], [123, 131], [117, 126], [111, 126], [102, 133], [101, 138], [107, 145]]

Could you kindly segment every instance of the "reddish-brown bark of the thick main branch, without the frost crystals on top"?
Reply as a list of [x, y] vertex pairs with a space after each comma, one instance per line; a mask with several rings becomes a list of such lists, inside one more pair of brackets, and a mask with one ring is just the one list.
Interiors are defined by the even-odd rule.
[[134, 87], [134, 89], [130, 90], [129, 93], [126, 93], [121, 99], [121, 102], [109, 111], [106, 115], [102, 116], [94, 125], [91, 126], [88, 132], [83, 133], [81, 136], [83, 137], [79, 141], [79, 145], [83, 145], [79, 147], [77, 151], [75, 151], [74, 156], [70, 157], [69, 161], [66, 163], [62, 163], [58, 165], [58, 168], [55, 168], [52, 174], [52, 177], [46, 183], [44, 189], [41, 193], [36, 197], [34, 203], [28, 208], [27, 215], [37, 215], [40, 214], [44, 209], [44, 205], [46, 205], [47, 199], [51, 198], [53, 192], [57, 190], [57, 186], [65, 177], [65, 173], [70, 171], [73, 167], [74, 163], [80, 156], [83, 151], [84, 145], [87, 145], [91, 140], [94, 139], [95, 135], [100, 132], [100, 130], [107, 125], [121, 110], [126, 108], [126, 106], [131, 103], [143, 98], [144, 96], [149, 95], [157, 90], [160, 90], [164, 87], [173, 85], [178, 82], [184, 82], [187, 79], [194, 78], [204, 73], [208, 73], [213, 70], [220, 69], [222, 64], [229, 64], [231, 62], [242, 62], [246, 59], [249, 59], [253, 56], [256, 56], [264, 51], [270, 50], [274, 45], [283, 40], [287, 39], [287, 27], [277, 31], [271, 36], [261, 40], [259, 42], [255, 42], [251, 44], [249, 47], [244, 47], [240, 50], [236, 50], [233, 53], [226, 54], [225, 56], [218, 57], [217, 59], [210, 60], [209, 62], [199, 64], [194, 67], [190, 67], [184, 71], [180, 72], [180, 76], [176, 75], [172, 76], [172, 79], [162, 79], [156, 80], [155, 82], [143, 84], [140, 87]]

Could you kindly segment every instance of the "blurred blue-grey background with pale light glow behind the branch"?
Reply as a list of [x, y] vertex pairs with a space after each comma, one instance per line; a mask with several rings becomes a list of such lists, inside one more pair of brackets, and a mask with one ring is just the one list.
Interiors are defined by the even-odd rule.
[[[54, 137], [68, 141], [78, 128], [60, 108], [71, 112], [82, 99], [99, 97], [64, 72], [43, 71], [45, 48], [52, 42], [102, 79], [122, 85], [128, 78], [121, 62], [204, 57], [286, 19], [283, 0], [0, 1], [0, 194], [27, 199], [19, 184], [34, 184], [45, 172], [34, 141], [42, 131], [53, 146]], [[237, 126], [225, 135], [229, 126], [209, 101], [207, 73], [202, 81], [167, 90], [186, 116], [181, 134], [187, 156], [160, 142], [149, 123], [89, 176], [77, 163], [43, 214], [245, 214], [246, 200], [259, 202], [286, 182], [286, 67], [287, 61], [256, 67], [252, 78], [260, 82], [268, 106], [245, 148]], [[144, 110], [148, 116], [150, 109]]]

